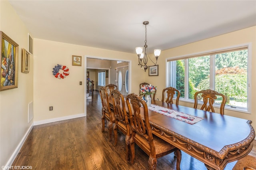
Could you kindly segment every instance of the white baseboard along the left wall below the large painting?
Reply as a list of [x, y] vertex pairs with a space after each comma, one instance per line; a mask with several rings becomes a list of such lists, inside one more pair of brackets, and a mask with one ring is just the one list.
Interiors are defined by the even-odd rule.
[[20, 143], [18, 144], [18, 146], [16, 147], [16, 149], [14, 150], [12, 156], [10, 157], [10, 159], [8, 160], [6, 166], [2, 166], [1, 168], [3, 170], [8, 170], [11, 168], [12, 166], [12, 163], [14, 162], [16, 156], [18, 155], [18, 153], [20, 152], [20, 149], [21, 147], [23, 146], [25, 140], [27, 139], [28, 137], [28, 134], [30, 133], [30, 131], [32, 130], [32, 128], [34, 127], [33, 123], [32, 125], [28, 128], [27, 132], [24, 134], [22, 140], [20, 141]]

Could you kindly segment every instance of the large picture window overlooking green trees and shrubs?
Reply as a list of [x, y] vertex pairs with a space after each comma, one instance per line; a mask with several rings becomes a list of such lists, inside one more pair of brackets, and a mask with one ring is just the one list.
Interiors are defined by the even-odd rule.
[[167, 86], [179, 89], [180, 99], [190, 102], [196, 91], [212, 89], [226, 95], [226, 109], [248, 111], [248, 56], [248, 45], [243, 45], [170, 59]]

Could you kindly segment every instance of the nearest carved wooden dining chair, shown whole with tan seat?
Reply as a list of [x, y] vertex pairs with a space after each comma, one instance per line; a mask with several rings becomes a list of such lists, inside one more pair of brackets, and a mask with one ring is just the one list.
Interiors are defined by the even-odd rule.
[[148, 154], [150, 170], [156, 169], [157, 158], [170, 154], [174, 151], [176, 151], [177, 155], [176, 169], [179, 170], [181, 151], [172, 144], [162, 140], [158, 136], [153, 136], [148, 118], [148, 107], [142, 97], [139, 97], [134, 93], [129, 94], [126, 97], [126, 104], [128, 107], [131, 126], [131, 163], [134, 163], [134, 143], [136, 143], [140, 148], [142, 148], [142, 150], [144, 150], [144, 152], [146, 152], [146, 154]]

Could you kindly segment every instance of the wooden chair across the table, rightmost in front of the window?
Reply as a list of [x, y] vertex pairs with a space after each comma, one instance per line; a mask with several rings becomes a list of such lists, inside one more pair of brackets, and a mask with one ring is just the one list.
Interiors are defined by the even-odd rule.
[[226, 96], [211, 89], [201, 90], [195, 93], [194, 109], [197, 109], [198, 99], [203, 99], [203, 105], [200, 108], [200, 110], [215, 112], [213, 104], [214, 104], [214, 100], [216, 100], [218, 96], [222, 97], [222, 102], [220, 104], [220, 114], [224, 115], [224, 107], [226, 105]]

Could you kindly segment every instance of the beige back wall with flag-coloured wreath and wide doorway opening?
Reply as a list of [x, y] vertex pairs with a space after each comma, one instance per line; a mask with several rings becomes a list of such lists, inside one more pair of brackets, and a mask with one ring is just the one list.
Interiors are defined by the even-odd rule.
[[[93, 56], [106, 59], [131, 59], [132, 63], [137, 61], [134, 54], [73, 45], [68, 43], [52, 42], [34, 39], [34, 121], [43, 121], [66, 117], [71, 115], [85, 114], [85, 77], [86, 67], [72, 66], [72, 55]], [[57, 65], [66, 65], [70, 75], [64, 79], [56, 79], [52, 75], [52, 68]], [[140, 67], [131, 64], [132, 68], [132, 92], [138, 83], [136, 80], [144, 79], [134, 72], [140, 72]], [[133, 81], [134, 80], [134, 81]], [[79, 81], [83, 85], [79, 85]], [[137, 92], [137, 89], [134, 91]], [[53, 111], [49, 111], [53, 106]]]

